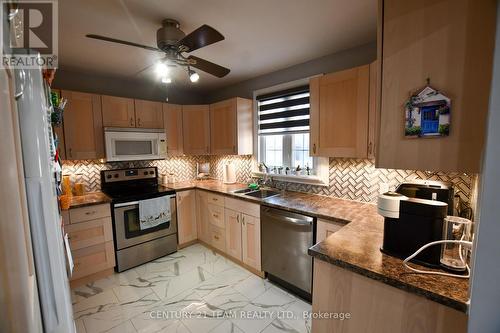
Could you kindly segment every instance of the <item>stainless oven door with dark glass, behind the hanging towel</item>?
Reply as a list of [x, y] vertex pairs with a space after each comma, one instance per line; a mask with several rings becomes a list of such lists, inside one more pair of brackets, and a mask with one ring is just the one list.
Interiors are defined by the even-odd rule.
[[175, 195], [170, 195], [170, 221], [153, 228], [141, 230], [139, 223], [139, 201], [115, 204], [113, 215], [117, 250], [177, 232]]

